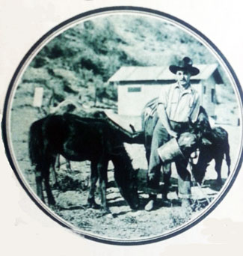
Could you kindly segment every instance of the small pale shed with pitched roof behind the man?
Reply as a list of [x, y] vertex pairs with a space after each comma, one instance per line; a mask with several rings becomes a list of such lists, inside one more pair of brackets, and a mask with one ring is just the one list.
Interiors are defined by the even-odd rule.
[[[215, 117], [215, 88], [223, 84], [218, 64], [195, 64], [195, 67], [200, 69], [200, 73], [191, 76], [191, 85], [199, 92], [202, 106]], [[118, 114], [141, 115], [144, 105], [158, 97], [162, 87], [176, 80], [168, 67], [120, 67], [108, 82], [117, 86]]]

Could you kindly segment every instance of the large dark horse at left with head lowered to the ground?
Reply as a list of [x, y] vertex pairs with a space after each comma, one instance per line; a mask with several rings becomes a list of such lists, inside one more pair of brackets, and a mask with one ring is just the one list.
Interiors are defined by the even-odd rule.
[[48, 115], [35, 121], [30, 128], [29, 155], [35, 167], [37, 195], [44, 201], [42, 180], [48, 203], [55, 204], [49, 185], [49, 169], [58, 154], [71, 161], [90, 160], [90, 190], [87, 207], [97, 207], [94, 199], [99, 178], [101, 207], [108, 212], [106, 201], [108, 161], [114, 164], [114, 179], [121, 195], [132, 209], [139, 204], [136, 171], [123, 142], [132, 143], [135, 137], [111, 124], [105, 118], [80, 118], [77, 115]]

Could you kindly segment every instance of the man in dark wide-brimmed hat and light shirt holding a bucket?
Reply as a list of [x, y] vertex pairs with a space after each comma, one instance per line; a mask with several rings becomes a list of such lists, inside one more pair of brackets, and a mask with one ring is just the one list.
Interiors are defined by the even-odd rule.
[[[159, 158], [158, 148], [170, 140], [187, 132], [190, 124], [197, 121], [200, 109], [200, 97], [191, 88], [190, 78], [200, 71], [192, 66], [191, 58], [185, 57], [178, 65], [170, 65], [170, 71], [176, 75], [176, 83], [162, 89], [158, 102], [159, 121], [153, 131], [150, 163], [148, 170], [148, 191], [150, 201], [145, 210], [153, 210], [156, 194], [159, 193], [160, 169], [163, 165], [164, 189], [163, 199], [167, 199], [167, 184], [170, 178], [170, 164], [164, 165]], [[178, 173], [178, 189], [180, 198], [189, 201], [191, 197], [191, 174], [187, 170], [188, 159], [175, 162]]]

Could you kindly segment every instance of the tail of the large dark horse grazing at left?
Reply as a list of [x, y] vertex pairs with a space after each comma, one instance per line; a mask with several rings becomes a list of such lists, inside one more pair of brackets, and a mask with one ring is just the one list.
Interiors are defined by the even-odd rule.
[[28, 138], [28, 153], [32, 165], [37, 165], [43, 159], [43, 134], [40, 121], [31, 124]]

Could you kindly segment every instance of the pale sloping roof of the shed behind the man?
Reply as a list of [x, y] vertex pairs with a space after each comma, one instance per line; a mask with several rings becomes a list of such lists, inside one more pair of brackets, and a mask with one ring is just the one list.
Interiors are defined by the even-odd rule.
[[[195, 65], [200, 73], [191, 79], [205, 80], [212, 76], [212, 73], [218, 67], [218, 64], [200, 64]], [[128, 81], [158, 81], [174, 80], [175, 76], [168, 67], [120, 67], [108, 82], [128, 82]]]

